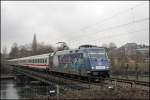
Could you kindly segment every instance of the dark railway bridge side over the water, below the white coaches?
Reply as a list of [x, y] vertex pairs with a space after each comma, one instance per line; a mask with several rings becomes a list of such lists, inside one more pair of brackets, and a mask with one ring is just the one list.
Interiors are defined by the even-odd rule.
[[69, 80], [65, 77], [58, 77], [57, 75], [51, 75], [46, 71], [37, 71], [30, 68], [20, 67], [16, 65], [13, 66], [13, 71], [16, 76], [16, 79], [19, 78], [21, 82], [25, 82], [24, 79], [29, 80], [29, 78], [35, 79], [37, 81], [56, 86], [61, 89], [87, 89], [89, 84], [81, 83], [75, 80]]

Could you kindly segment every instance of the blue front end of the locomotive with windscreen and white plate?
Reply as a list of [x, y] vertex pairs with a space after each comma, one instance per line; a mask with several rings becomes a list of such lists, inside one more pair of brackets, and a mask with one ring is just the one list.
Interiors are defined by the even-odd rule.
[[88, 75], [96, 80], [109, 78], [110, 61], [105, 48], [87, 49]]

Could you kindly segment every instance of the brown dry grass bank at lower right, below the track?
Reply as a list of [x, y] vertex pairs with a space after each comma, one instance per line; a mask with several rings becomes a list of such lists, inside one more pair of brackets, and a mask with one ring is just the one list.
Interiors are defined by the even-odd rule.
[[[54, 97], [44, 97], [56, 99]], [[43, 98], [43, 99], [44, 99]], [[139, 90], [136, 88], [94, 88], [85, 90], [68, 90], [59, 96], [60, 99], [145, 99], [149, 100], [149, 91]], [[37, 98], [35, 98], [37, 99]]]

